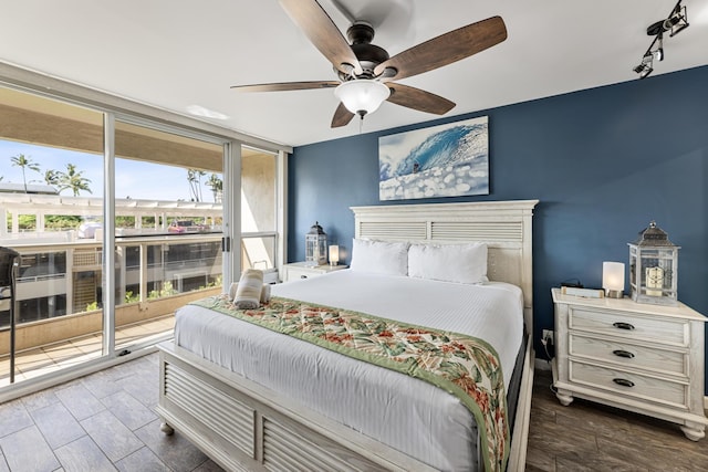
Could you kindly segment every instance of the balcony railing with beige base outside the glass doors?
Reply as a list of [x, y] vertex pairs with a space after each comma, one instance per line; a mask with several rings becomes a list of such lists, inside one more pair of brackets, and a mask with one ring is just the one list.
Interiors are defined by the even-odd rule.
[[[220, 242], [218, 233], [116, 238], [116, 327], [164, 317], [191, 300], [220, 292]], [[103, 293], [103, 250], [100, 241], [43, 241], [40, 244], [18, 241], [13, 249], [20, 252], [21, 260], [24, 255], [37, 263], [37, 266], [21, 264], [23, 273], [17, 283], [19, 313], [15, 319], [33, 319], [18, 324], [18, 352], [101, 334], [103, 303], [98, 298]], [[137, 265], [136, 261], [127, 264], [128, 249], [133, 251], [132, 256], [135, 252], [139, 254]], [[63, 272], [48, 263], [52, 258], [61, 261], [59, 269]], [[33, 270], [50, 273], [33, 274]], [[86, 276], [92, 272], [92, 276]], [[128, 293], [131, 297], [126, 297]], [[0, 312], [8, 310], [9, 306], [0, 306]], [[22, 316], [23, 311], [33, 312], [31, 316]], [[6, 328], [0, 327], [0, 356], [8, 353], [8, 336], [6, 324]]]

